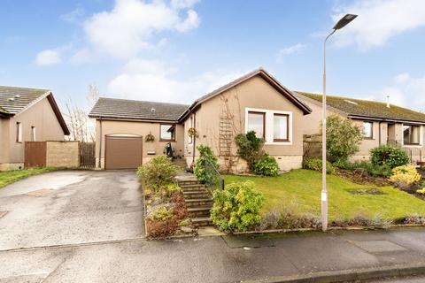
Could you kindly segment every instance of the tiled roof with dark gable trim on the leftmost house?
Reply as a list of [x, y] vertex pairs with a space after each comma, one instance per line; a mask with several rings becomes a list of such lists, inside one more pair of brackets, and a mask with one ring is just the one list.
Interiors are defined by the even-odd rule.
[[64, 134], [68, 135], [69, 130], [66, 122], [59, 111], [58, 104], [48, 89], [0, 86], [0, 116], [12, 117], [17, 115], [22, 111], [26, 111], [27, 108], [44, 97], [48, 99]]

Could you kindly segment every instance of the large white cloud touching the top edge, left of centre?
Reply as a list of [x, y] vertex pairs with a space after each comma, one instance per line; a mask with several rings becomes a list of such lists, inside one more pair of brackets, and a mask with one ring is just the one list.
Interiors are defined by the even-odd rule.
[[[199, 25], [197, 12], [184, 10], [195, 1], [116, 0], [112, 11], [94, 14], [84, 23], [89, 42], [96, 50], [118, 58], [135, 57], [152, 47], [152, 34], [161, 31], [187, 32]], [[186, 17], [181, 13], [186, 11]]]

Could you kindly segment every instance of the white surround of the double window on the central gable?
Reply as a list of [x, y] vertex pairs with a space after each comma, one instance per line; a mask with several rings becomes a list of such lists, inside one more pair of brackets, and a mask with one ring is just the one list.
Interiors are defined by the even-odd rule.
[[[248, 133], [248, 112], [263, 112], [265, 113], [266, 125], [266, 145], [292, 145], [292, 111], [280, 111], [259, 108], [245, 108], [245, 134]], [[288, 142], [274, 142], [274, 114], [286, 114], [289, 117]]]

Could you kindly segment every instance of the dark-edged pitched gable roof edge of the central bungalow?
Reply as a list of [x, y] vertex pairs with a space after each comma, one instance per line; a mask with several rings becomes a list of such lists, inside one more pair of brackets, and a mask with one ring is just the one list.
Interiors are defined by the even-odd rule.
[[242, 83], [245, 80], [249, 80], [252, 77], [260, 76], [264, 80], [266, 80], [272, 87], [274, 87], [278, 92], [282, 94], [282, 96], [285, 96], [287, 99], [290, 100], [291, 103], [294, 103], [301, 111], [303, 111], [304, 114], [309, 114], [312, 112], [312, 110], [303, 103], [301, 100], [298, 99], [297, 96], [295, 96], [288, 88], [285, 88], [278, 80], [276, 80], [270, 73], [267, 73], [266, 70], [263, 68], [256, 69], [252, 71], [251, 73], [247, 73], [243, 75], [242, 77], [233, 80], [229, 82], [228, 84], [217, 88], [210, 92], [209, 94], [206, 94], [205, 96], [202, 96], [198, 98], [194, 103], [190, 105], [190, 107], [182, 114], [182, 117], [179, 120], [185, 119], [191, 111], [197, 108], [197, 106], [201, 103], [204, 103], [205, 101], [213, 98], [214, 96], [218, 96], [221, 93], [225, 92], [229, 88], [234, 88], [236, 85]]

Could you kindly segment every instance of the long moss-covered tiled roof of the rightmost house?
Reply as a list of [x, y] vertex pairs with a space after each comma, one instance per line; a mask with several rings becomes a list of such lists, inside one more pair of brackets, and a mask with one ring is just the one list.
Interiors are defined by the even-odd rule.
[[[297, 92], [298, 97], [311, 99], [315, 103], [321, 103], [322, 96], [305, 92]], [[387, 107], [387, 103], [354, 99], [342, 96], [327, 96], [330, 108], [343, 112], [343, 114], [359, 119], [382, 119], [390, 121], [411, 121], [425, 123], [425, 114], [412, 111], [394, 104]]]

